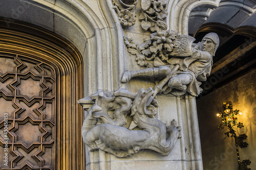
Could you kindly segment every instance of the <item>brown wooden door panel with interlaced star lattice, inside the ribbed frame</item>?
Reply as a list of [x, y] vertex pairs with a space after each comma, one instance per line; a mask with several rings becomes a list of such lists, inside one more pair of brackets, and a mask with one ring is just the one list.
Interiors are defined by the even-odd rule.
[[[0, 155], [5, 148], [8, 113], [8, 160], [0, 169], [54, 169], [56, 84], [54, 69], [29, 57], [0, 54]], [[2, 160], [2, 159], [1, 159]]]

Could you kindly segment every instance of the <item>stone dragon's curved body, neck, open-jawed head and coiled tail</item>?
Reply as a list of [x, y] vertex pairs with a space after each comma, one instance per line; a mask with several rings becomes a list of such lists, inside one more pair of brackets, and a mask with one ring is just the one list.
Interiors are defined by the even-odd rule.
[[[119, 99], [119, 102], [123, 102], [118, 108], [119, 111], [126, 114], [131, 110], [134, 124], [142, 130], [128, 130], [122, 126], [112, 125], [112, 121], [109, 120], [105, 123], [107, 113], [103, 113], [102, 110], [106, 112], [108, 108], [102, 108], [106, 107], [104, 102], [97, 102], [97, 100], [102, 101], [104, 97], [102, 94], [98, 95], [82, 127], [83, 141], [88, 145], [89, 150], [101, 149], [117, 157], [127, 157], [141, 149], [150, 149], [159, 152], [162, 156], [167, 156], [173, 150], [177, 139], [180, 138], [180, 127], [176, 127], [175, 120], [167, 126], [155, 118], [157, 113], [155, 107], [158, 103], [152, 98], [153, 94], [152, 88], [140, 89], [133, 105], [129, 100]], [[113, 101], [113, 98], [106, 96], [105, 98], [106, 101]], [[97, 118], [100, 117], [104, 117], [103, 124], [97, 124]], [[166, 139], [167, 133], [169, 136]]]

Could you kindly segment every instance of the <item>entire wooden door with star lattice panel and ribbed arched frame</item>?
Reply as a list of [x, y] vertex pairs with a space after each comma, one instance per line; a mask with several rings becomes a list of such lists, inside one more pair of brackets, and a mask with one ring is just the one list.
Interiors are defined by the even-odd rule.
[[80, 53], [52, 32], [6, 22], [0, 18], [0, 169], [85, 169]]

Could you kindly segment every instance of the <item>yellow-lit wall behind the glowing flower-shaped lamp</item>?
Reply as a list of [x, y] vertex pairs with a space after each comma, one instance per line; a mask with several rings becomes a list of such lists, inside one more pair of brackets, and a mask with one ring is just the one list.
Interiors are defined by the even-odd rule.
[[256, 71], [228, 83], [216, 91], [197, 100], [199, 129], [204, 169], [238, 169], [238, 159], [234, 138], [226, 137], [227, 127], [218, 129], [221, 117], [216, 114], [223, 111], [223, 102], [232, 102], [233, 109], [242, 112], [238, 115], [238, 122], [244, 124], [244, 128], [234, 127], [237, 134], [245, 133], [248, 137], [247, 148], [239, 147], [241, 161], [249, 159], [249, 168], [256, 166]]

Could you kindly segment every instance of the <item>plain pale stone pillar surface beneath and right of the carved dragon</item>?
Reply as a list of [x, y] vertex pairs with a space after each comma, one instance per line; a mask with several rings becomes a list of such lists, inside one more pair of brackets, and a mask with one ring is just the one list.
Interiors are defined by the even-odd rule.
[[[87, 169], [203, 169], [195, 97], [167, 94], [157, 95], [157, 100], [159, 112], [156, 117], [165, 124], [176, 119], [181, 127], [181, 138], [168, 156], [152, 150], [140, 150], [132, 156], [118, 158], [102, 150], [89, 151], [86, 147]], [[83, 103], [85, 110], [92, 106], [86, 100], [79, 102]], [[85, 112], [87, 115], [88, 111]]]

